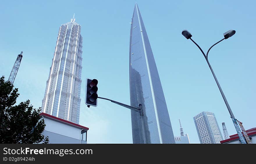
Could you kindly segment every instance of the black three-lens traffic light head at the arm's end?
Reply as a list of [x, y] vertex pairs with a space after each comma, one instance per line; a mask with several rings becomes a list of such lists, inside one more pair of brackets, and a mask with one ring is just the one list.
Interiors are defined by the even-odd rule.
[[86, 79], [86, 96], [85, 104], [87, 107], [94, 106], [97, 107], [97, 98], [98, 98], [98, 80], [97, 79]]

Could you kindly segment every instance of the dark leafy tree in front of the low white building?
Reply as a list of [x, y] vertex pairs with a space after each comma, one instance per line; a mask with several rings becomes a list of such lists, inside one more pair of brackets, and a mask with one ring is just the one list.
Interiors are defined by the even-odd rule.
[[30, 100], [15, 105], [19, 96], [10, 81], [0, 79], [0, 143], [49, 143], [42, 135], [45, 121], [41, 109], [33, 109]]

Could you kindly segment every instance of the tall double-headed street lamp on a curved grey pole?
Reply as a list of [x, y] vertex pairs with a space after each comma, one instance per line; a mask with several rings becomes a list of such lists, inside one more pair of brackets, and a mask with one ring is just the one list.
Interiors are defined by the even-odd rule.
[[213, 46], [215, 46], [216, 44], [218, 44], [219, 42], [223, 41], [224, 39], [227, 39], [227, 38], [229, 38], [229, 37], [232, 37], [235, 33], [236, 33], [235, 30], [229, 30], [229, 31], [227, 31], [226, 33], [224, 33], [224, 34], [223, 34], [223, 35], [224, 35], [224, 38], [221, 39], [220, 41], [218, 41], [217, 43], [215, 43], [214, 45], [212, 45], [212, 46], [208, 49], [208, 51], [207, 51], [207, 53], [206, 53], [206, 55], [205, 55], [205, 53], [204, 53], [204, 51], [202, 50], [202, 48], [200, 48], [200, 46], [198, 46], [198, 44], [197, 44], [195, 41], [193, 41], [193, 39], [191, 39], [191, 37], [192, 37], [191, 33], [189, 33], [188, 30], [183, 30], [183, 31], [182, 31], [182, 35], [183, 35], [185, 38], [192, 40], [192, 42], [194, 42], [195, 45], [198, 46], [198, 48], [200, 49], [200, 51], [203, 53], [203, 55], [204, 55], [204, 57], [205, 57], [205, 60], [206, 60], [206, 62], [207, 62], [207, 64], [208, 64], [208, 66], [210, 67], [211, 73], [212, 73], [212, 75], [213, 75], [213, 77], [214, 77], [214, 79], [215, 79], [215, 81], [216, 81], [216, 83], [217, 83], [217, 85], [218, 85], [218, 88], [219, 88], [219, 90], [220, 90], [220, 92], [221, 92], [221, 95], [222, 95], [222, 97], [223, 97], [223, 100], [224, 100], [224, 102], [225, 102], [225, 104], [226, 104], [226, 106], [227, 106], [227, 110], [228, 110], [228, 112], [230, 113], [230, 116], [231, 116], [231, 118], [232, 118], [232, 120], [233, 120], [234, 126], [235, 126], [235, 128], [236, 128], [236, 130], [237, 130], [237, 134], [238, 134], [238, 136], [239, 136], [239, 138], [240, 138], [240, 140], [241, 140], [241, 143], [246, 143], [245, 139], [243, 138], [243, 134], [241, 133], [241, 130], [240, 130], [238, 124], [237, 124], [237, 120], [236, 120], [236, 118], [235, 118], [235, 116], [234, 116], [232, 110], [230, 109], [230, 106], [229, 106], [229, 104], [228, 104], [228, 102], [227, 102], [227, 99], [226, 99], [226, 97], [225, 97], [225, 95], [224, 95], [224, 93], [223, 93], [223, 91], [222, 91], [222, 89], [221, 89], [221, 86], [220, 86], [220, 84], [219, 84], [219, 82], [218, 82], [218, 80], [217, 80], [217, 78], [216, 78], [216, 76], [215, 76], [215, 74], [214, 74], [214, 72], [213, 72], [213, 70], [212, 70], [212, 68], [211, 68], [211, 65], [210, 65], [210, 63], [209, 63], [209, 61], [208, 61], [208, 53], [209, 53], [210, 49], [211, 49]]

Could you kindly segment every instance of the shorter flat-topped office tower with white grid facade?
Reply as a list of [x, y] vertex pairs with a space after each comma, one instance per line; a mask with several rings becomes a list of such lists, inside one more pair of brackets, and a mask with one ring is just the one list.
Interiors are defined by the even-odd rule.
[[214, 113], [202, 112], [193, 118], [200, 143], [220, 143], [223, 140]]

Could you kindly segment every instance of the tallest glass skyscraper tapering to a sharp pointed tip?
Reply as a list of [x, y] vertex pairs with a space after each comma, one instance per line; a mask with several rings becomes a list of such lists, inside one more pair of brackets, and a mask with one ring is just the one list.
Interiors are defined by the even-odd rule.
[[[146, 143], [175, 143], [157, 66], [137, 3], [130, 32], [130, 101], [143, 105]], [[140, 115], [131, 111], [133, 143], [143, 143]]]

